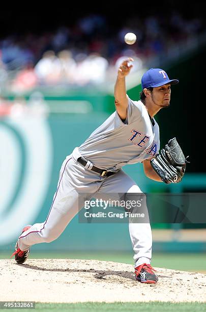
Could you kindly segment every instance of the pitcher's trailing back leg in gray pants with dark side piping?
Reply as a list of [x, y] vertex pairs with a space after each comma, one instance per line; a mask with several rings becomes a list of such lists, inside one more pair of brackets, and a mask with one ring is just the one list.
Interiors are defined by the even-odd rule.
[[[60, 171], [57, 191], [53, 197], [53, 202], [44, 223], [36, 223], [30, 229], [23, 232], [18, 240], [18, 247], [25, 251], [30, 246], [38, 243], [49, 243], [58, 238], [64, 231], [68, 223], [78, 213], [78, 188], [81, 184], [79, 180], [80, 172], [71, 158], [67, 158]], [[87, 193], [97, 186], [95, 184], [87, 187]], [[77, 192], [78, 190], [78, 192]], [[95, 190], [96, 191], [96, 190]], [[87, 195], [89, 196], [89, 195]]]

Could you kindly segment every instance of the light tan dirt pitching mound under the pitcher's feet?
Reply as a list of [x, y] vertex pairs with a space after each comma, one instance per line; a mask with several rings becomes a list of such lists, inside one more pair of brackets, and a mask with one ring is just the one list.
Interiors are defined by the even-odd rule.
[[137, 282], [132, 265], [97, 260], [0, 260], [2, 301], [206, 301], [206, 275], [155, 268], [157, 284]]

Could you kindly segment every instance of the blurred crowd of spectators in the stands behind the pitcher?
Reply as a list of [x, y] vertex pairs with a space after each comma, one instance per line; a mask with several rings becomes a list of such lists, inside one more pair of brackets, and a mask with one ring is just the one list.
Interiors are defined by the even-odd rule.
[[[175, 11], [169, 16], [130, 16], [123, 24], [117, 28], [105, 16], [91, 14], [55, 31], [0, 38], [2, 88], [23, 92], [36, 86], [101, 84], [122, 58], [133, 57], [136, 70], [205, 32], [203, 18], [187, 19]], [[137, 35], [134, 45], [124, 42], [128, 32]]]

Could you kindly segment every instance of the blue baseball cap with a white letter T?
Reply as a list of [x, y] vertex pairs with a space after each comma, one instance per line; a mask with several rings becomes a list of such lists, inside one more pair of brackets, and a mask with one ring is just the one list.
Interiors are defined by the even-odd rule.
[[166, 84], [176, 85], [179, 80], [170, 80], [166, 71], [161, 68], [151, 68], [146, 71], [141, 79], [142, 90], [149, 87], [160, 87]]

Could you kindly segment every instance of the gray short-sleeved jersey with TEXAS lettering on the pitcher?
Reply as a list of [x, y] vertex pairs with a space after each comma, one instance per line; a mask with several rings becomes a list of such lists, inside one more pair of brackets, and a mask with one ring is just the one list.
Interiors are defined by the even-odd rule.
[[152, 158], [159, 150], [159, 126], [143, 103], [128, 98], [127, 119], [115, 111], [80, 145], [81, 155], [96, 167], [115, 171]]

